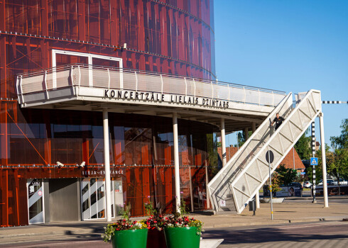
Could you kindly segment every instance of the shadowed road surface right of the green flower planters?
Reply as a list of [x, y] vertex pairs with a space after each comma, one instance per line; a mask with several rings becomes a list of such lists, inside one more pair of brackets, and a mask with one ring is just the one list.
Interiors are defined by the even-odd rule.
[[268, 227], [224, 228], [204, 238], [224, 239], [226, 247], [348, 247], [348, 222], [315, 222]]

